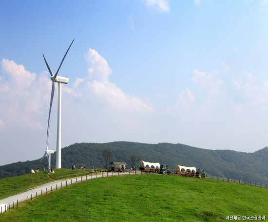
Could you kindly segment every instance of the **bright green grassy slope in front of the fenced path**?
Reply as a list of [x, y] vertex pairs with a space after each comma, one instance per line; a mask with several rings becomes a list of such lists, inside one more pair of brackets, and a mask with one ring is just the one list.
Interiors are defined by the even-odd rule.
[[268, 217], [268, 189], [167, 175], [80, 182], [0, 215], [16, 222], [217, 222], [228, 215]]

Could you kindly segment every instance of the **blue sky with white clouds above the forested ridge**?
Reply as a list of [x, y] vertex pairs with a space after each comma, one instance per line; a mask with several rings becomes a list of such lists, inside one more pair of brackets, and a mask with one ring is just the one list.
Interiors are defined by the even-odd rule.
[[[59, 75], [62, 147], [268, 146], [267, 0], [1, 0], [0, 165], [41, 158]], [[56, 150], [57, 87], [49, 148]]]

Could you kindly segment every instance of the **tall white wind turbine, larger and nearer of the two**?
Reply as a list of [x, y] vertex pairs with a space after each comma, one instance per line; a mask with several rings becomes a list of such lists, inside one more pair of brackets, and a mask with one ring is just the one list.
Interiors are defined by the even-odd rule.
[[[75, 39], [74, 39], [75, 40]], [[52, 106], [52, 102], [53, 102], [53, 97], [54, 97], [54, 91], [55, 91], [55, 82], [58, 83], [58, 88], [57, 88], [57, 153], [56, 153], [56, 169], [60, 169], [61, 168], [61, 83], [67, 84], [69, 81], [69, 78], [66, 77], [61, 77], [58, 76], [58, 71], [61, 67], [62, 62], [64, 61], [71, 45], [73, 44], [74, 40], [71, 42], [69, 48], [67, 49], [62, 61], [60, 62], [60, 65], [57, 69], [56, 74], [54, 75], [53, 72], [51, 71], [45, 56], [43, 54], [46, 66], [48, 68], [48, 71], [51, 75], [50, 79], [52, 80], [52, 90], [51, 90], [51, 98], [50, 98], [50, 107], [49, 107], [49, 114], [48, 114], [48, 123], [47, 123], [47, 138], [46, 138], [46, 143], [47, 143], [47, 149], [45, 151], [45, 154], [43, 156], [43, 158], [45, 157], [45, 155], [47, 155], [48, 158], [48, 166], [50, 169], [50, 155], [51, 153], [54, 153], [54, 150], [49, 150], [48, 149], [48, 136], [49, 136], [49, 127], [50, 127], [50, 113], [51, 113], [51, 106]]]

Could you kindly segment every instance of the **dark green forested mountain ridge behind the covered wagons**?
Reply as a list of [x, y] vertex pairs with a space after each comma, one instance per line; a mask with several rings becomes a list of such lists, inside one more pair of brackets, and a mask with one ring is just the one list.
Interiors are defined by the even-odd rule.
[[[127, 168], [131, 159], [138, 161], [168, 164], [172, 170], [177, 164], [203, 168], [208, 175], [233, 178], [241, 181], [268, 184], [268, 147], [254, 153], [231, 150], [209, 150], [183, 144], [137, 142], [75, 143], [61, 150], [62, 168], [71, 168], [72, 164], [84, 165], [86, 168], [103, 168], [105, 158], [103, 150], [113, 154], [111, 161], [125, 161]], [[52, 155], [52, 167], [55, 167], [56, 153]], [[28, 173], [30, 169], [47, 168], [47, 160], [17, 162], [0, 166], [0, 178]]]

